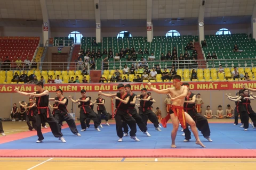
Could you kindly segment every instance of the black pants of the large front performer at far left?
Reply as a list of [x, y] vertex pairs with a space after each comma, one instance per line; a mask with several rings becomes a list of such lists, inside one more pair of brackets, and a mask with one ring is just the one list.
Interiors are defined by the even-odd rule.
[[40, 114], [35, 114], [36, 115], [36, 131], [37, 131], [38, 140], [44, 139], [43, 133], [41, 131], [42, 122], [47, 122], [50, 125], [51, 131], [54, 137], [59, 138], [63, 136], [57, 121], [51, 114], [50, 109], [48, 110], [48, 112], [49, 112], [49, 117], [47, 117], [46, 109], [40, 109]]

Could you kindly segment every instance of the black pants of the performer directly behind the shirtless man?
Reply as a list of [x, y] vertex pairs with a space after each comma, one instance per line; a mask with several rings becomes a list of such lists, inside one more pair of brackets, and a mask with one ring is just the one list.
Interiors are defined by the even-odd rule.
[[[194, 110], [189, 110], [187, 113], [193, 118], [196, 123], [196, 128], [202, 132], [203, 136], [209, 137], [211, 135], [211, 131], [207, 119]], [[185, 139], [191, 139], [191, 132], [188, 128], [188, 124], [187, 128], [184, 129], [183, 132], [185, 133]]]

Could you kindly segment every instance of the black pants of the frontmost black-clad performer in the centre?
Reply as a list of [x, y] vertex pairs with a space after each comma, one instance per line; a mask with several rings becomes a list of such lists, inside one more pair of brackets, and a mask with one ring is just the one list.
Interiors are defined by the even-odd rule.
[[136, 135], [136, 132], [137, 132], [136, 121], [127, 111], [117, 109], [115, 120], [116, 120], [116, 133], [119, 138], [123, 138], [124, 136], [122, 121], [125, 121], [129, 125], [131, 129], [130, 136], [132, 137]]

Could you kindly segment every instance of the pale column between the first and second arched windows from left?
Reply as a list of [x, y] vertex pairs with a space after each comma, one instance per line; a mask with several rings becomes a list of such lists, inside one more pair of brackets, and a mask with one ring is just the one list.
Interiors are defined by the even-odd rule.
[[100, 23], [100, 1], [94, 0], [95, 22], [96, 22], [96, 43], [101, 42], [101, 23]]

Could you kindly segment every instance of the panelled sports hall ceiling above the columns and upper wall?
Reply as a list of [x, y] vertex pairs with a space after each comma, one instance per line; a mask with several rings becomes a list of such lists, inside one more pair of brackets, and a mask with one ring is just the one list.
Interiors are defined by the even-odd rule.
[[[93, 0], [45, 0], [51, 27], [95, 27]], [[205, 24], [250, 23], [255, 0], [205, 0]], [[200, 0], [153, 0], [153, 24], [197, 23]], [[102, 27], [146, 25], [146, 0], [100, 0]], [[42, 25], [40, 0], [0, 0], [0, 26]]]

